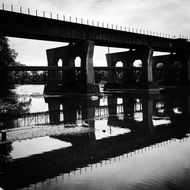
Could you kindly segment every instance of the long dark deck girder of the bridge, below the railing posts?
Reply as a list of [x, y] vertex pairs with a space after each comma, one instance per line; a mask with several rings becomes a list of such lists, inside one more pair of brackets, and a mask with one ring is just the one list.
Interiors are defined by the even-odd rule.
[[0, 35], [10, 37], [77, 43], [92, 40], [100, 46], [150, 46], [156, 51], [190, 51], [190, 44], [185, 39], [170, 39], [4, 10], [0, 10], [0, 23]]

